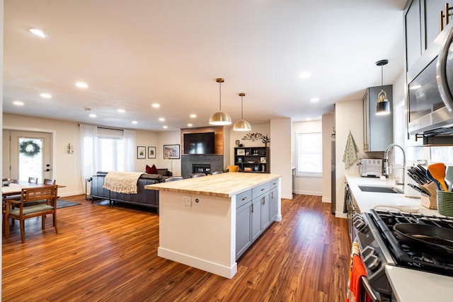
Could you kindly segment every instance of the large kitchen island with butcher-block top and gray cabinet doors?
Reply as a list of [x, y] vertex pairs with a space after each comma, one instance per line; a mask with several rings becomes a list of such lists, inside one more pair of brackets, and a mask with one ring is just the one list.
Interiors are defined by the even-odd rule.
[[226, 278], [238, 255], [282, 220], [280, 175], [222, 173], [145, 189], [159, 190], [157, 255]]

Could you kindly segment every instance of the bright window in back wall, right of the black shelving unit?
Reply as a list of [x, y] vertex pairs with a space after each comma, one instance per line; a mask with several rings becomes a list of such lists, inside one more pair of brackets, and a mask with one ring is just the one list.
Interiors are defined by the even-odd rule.
[[322, 133], [297, 134], [297, 175], [322, 176]]

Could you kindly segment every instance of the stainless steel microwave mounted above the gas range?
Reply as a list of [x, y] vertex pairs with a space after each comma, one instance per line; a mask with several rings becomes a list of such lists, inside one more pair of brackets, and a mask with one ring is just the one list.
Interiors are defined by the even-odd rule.
[[408, 70], [408, 132], [453, 134], [453, 23]]

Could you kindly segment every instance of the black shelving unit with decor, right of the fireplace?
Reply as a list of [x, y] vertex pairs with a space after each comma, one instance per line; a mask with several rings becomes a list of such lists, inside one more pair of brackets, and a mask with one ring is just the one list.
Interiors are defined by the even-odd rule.
[[268, 147], [234, 148], [234, 164], [239, 172], [270, 173], [269, 152]]

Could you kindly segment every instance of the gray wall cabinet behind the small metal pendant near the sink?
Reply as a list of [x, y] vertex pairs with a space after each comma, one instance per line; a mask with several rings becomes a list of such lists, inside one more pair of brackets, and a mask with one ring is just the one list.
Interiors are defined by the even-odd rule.
[[377, 95], [382, 87], [367, 88], [363, 96], [363, 149], [364, 151], [385, 151], [394, 141], [393, 90], [391, 85], [384, 86], [389, 100], [389, 115], [376, 115]]

